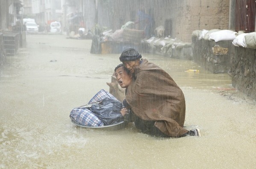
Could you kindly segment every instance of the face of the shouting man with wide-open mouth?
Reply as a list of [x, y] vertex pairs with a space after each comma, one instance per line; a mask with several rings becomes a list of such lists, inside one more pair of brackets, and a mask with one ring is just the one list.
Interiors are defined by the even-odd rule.
[[115, 77], [118, 83], [122, 88], [127, 88], [132, 81], [131, 75], [129, 75], [125, 70], [124, 67], [121, 66], [120, 68], [116, 69]]

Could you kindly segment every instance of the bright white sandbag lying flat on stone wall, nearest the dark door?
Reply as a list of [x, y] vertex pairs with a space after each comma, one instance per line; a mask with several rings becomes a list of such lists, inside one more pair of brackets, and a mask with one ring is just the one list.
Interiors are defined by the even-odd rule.
[[221, 30], [217, 32], [212, 32], [209, 34], [209, 39], [215, 40], [215, 42], [222, 40], [234, 40], [237, 36], [237, 32], [231, 30]]

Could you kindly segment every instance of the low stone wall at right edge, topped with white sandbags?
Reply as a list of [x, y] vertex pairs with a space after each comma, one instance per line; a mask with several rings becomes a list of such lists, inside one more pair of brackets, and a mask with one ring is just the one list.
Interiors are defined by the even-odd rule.
[[232, 86], [256, 99], [256, 49], [237, 47], [232, 41], [192, 37], [193, 60], [212, 73], [228, 73]]

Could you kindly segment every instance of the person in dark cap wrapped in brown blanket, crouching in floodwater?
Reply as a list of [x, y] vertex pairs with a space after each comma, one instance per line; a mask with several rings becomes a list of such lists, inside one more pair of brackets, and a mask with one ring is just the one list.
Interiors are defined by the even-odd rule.
[[135, 115], [136, 128], [163, 137], [201, 135], [199, 129], [183, 128], [185, 97], [168, 73], [141, 59], [135, 49], [125, 50], [119, 59], [132, 73], [124, 105]]

